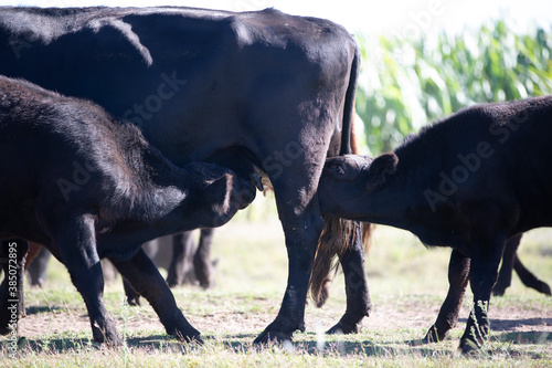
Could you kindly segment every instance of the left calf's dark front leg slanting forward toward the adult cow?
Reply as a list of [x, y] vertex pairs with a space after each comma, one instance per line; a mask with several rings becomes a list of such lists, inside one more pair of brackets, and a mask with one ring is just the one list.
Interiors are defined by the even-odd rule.
[[169, 286], [144, 249], [140, 248], [130, 260], [110, 261], [132, 288], [151, 304], [167, 334], [183, 341], [201, 341], [200, 333], [180, 312]]

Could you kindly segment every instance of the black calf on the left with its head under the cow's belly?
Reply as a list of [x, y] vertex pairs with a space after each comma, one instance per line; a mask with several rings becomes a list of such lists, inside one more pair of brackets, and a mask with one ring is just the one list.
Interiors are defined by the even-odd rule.
[[96, 341], [120, 344], [102, 297], [102, 257], [150, 302], [167, 333], [199, 339], [141, 244], [222, 225], [248, 204], [242, 190], [253, 183], [212, 164], [178, 168], [99, 106], [3, 76], [0, 157], [9, 174], [0, 182], [0, 239], [41, 243], [67, 267]]

